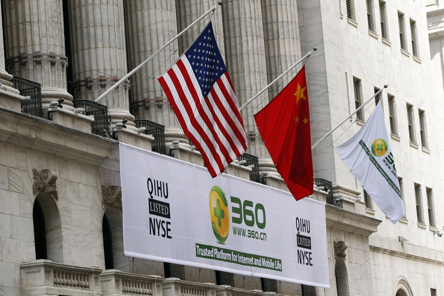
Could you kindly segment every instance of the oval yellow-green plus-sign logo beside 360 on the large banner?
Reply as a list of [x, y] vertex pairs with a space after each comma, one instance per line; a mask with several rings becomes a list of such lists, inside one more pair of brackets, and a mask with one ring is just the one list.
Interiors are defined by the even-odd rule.
[[221, 187], [215, 185], [210, 191], [210, 216], [214, 236], [220, 243], [224, 243], [230, 229], [230, 214], [228, 201]]

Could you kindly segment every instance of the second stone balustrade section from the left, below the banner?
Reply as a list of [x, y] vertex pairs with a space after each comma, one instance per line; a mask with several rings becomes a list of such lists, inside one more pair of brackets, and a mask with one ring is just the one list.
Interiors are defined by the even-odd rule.
[[158, 275], [140, 275], [116, 269], [104, 270], [100, 275], [104, 296], [122, 294], [162, 296], [162, 280], [163, 278]]

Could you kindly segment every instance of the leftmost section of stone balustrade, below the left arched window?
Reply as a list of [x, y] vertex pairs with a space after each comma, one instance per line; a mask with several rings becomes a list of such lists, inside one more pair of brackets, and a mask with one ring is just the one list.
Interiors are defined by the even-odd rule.
[[23, 296], [101, 295], [99, 278], [102, 269], [98, 267], [65, 265], [50, 260], [24, 261], [20, 267]]

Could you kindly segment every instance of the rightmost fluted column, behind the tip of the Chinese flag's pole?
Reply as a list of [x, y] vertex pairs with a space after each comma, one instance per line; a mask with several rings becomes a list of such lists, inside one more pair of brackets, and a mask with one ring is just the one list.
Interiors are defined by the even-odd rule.
[[[300, 59], [296, 1], [261, 0], [268, 83]], [[299, 67], [300, 68], [300, 67]], [[268, 89], [272, 100], [296, 75], [284, 75]]]

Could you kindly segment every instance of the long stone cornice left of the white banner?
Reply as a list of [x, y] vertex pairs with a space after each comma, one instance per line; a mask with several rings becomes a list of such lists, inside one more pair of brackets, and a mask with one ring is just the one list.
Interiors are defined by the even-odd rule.
[[0, 141], [119, 170], [118, 142], [0, 108]]

